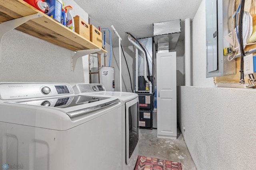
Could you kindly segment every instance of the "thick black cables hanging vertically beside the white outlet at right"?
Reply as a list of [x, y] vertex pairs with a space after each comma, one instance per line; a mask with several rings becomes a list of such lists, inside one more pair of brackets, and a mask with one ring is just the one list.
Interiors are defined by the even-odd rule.
[[238, 38], [239, 38], [239, 45], [240, 45], [240, 53], [241, 53], [241, 63], [240, 63], [240, 81], [239, 83], [244, 84], [244, 42], [243, 42], [243, 16], [244, 16], [244, 3], [245, 0], [241, 0], [241, 8], [240, 8], [240, 15], [239, 15], [239, 22], [238, 22]]

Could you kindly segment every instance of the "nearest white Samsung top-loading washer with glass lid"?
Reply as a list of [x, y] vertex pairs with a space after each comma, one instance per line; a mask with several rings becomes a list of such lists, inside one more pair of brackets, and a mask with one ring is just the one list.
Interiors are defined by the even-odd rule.
[[0, 83], [0, 165], [122, 169], [122, 104], [59, 83]]

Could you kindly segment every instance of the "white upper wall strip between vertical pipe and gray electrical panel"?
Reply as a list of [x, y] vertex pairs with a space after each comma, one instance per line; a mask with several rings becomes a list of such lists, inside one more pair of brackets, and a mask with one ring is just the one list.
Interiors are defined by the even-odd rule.
[[213, 87], [213, 78], [206, 78], [205, 0], [202, 0], [192, 24], [193, 85]]

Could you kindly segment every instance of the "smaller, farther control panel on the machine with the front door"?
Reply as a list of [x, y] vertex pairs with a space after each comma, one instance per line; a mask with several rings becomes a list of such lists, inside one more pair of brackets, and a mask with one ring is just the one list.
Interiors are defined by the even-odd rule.
[[77, 84], [73, 89], [76, 94], [106, 91], [102, 84]]

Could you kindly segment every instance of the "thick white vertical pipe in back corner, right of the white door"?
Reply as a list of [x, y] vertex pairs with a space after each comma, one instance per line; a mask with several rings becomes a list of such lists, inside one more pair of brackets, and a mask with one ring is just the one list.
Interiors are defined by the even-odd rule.
[[185, 19], [185, 85], [191, 86], [190, 18]]

